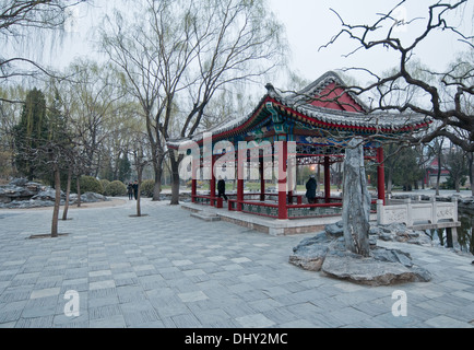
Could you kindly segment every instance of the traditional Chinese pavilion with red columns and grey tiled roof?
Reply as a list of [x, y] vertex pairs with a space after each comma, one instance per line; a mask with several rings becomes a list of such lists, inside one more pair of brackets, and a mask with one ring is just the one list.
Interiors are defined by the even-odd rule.
[[[276, 219], [296, 219], [308, 217], [323, 217], [339, 214], [342, 209], [342, 199], [331, 197], [330, 166], [342, 162], [345, 148], [354, 137], [364, 140], [365, 158], [377, 162], [378, 166], [378, 199], [384, 200], [384, 173], [382, 141], [402, 133], [415, 132], [428, 125], [419, 115], [369, 113], [369, 108], [354, 94], [347, 92], [346, 84], [335, 72], [327, 72], [318, 80], [297, 93], [283, 95], [268, 84], [266, 93], [256, 108], [248, 116], [237, 119], [227, 119], [221, 125], [200, 132], [190, 139], [171, 140], [170, 149], [177, 150], [193, 141], [199, 148], [202, 166], [206, 162], [205, 136], [212, 133], [213, 147], [220, 141], [229, 141], [234, 144], [233, 152], [237, 154], [239, 141], [256, 144], [269, 141], [272, 144], [272, 154], [283, 154], [281, 159], [289, 159], [288, 143], [296, 142], [296, 165], [320, 164], [324, 167], [324, 192], [316, 203], [303, 203], [301, 196], [294, 195], [294, 188], [282, 184], [287, 179], [280, 179], [279, 191], [265, 191], [263, 178], [264, 156], [258, 156], [260, 168], [260, 191], [245, 192], [245, 179], [237, 177], [237, 194], [228, 195], [228, 210], [242, 211]], [[194, 143], [194, 144], [195, 144]], [[294, 143], [292, 143], [294, 144]], [[248, 147], [248, 145], [247, 145]], [[248, 150], [249, 151], [249, 150]], [[226, 154], [225, 150], [213, 152], [208, 161], [212, 165]], [[241, 153], [244, 154], [244, 153]], [[250, 152], [245, 153], [250, 160]], [[256, 160], [253, 160], [256, 161]], [[253, 162], [256, 164], [256, 162]], [[283, 170], [289, 165], [283, 162]], [[193, 167], [195, 168], [195, 166]], [[216, 197], [216, 178], [212, 174], [210, 192], [200, 195], [197, 191], [197, 179], [192, 179], [192, 202], [223, 207], [222, 198]], [[224, 210], [224, 209], [223, 209]]]

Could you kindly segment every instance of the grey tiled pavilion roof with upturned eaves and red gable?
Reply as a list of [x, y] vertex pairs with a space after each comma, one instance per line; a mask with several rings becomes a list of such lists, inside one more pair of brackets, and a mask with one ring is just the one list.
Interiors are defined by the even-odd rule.
[[[283, 95], [266, 84], [266, 94], [247, 116], [227, 118], [206, 130], [213, 140], [232, 139], [248, 135], [252, 130], [268, 130], [272, 114], [282, 116], [285, 122], [293, 122], [311, 135], [321, 130], [345, 135], [398, 135], [426, 127], [429, 120], [414, 113], [369, 113], [369, 108], [355, 95], [346, 92], [346, 84], [333, 71], [296, 93]], [[265, 128], [266, 126], [266, 128]], [[191, 138], [169, 140], [168, 147], [178, 148], [186, 141], [201, 143], [204, 132]]]

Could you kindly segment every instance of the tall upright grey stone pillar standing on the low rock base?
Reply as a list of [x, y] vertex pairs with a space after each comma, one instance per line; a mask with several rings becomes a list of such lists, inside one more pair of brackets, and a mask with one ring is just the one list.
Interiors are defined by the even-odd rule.
[[351, 140], [344, 160], [344, 195], [342, 220], [348, 250], [369, 256], [370, 195], [367, 189], [362, 140]]

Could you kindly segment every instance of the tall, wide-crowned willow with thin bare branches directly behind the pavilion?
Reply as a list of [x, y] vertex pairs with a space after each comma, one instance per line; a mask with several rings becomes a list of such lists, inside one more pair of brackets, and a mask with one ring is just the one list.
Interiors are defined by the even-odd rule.
[[[154, 200], [161, 189], [165, 142], [198, 131], [217, 91], [259, 80], [282, 63], [282, 33], [263, 0], [149, 0], [133, 23], [119, 13], [107, 19], [104, 50], [146, 120]], [[171, 205], [177, 205], [180, 159], [174, 152], [168, 155]]]

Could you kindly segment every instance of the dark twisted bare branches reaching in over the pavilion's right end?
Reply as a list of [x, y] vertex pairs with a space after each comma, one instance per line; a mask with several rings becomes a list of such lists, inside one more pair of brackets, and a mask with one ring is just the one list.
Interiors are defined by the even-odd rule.
[[[473, 3], [467, 2], [467, 0], [437, 1], [427, 7], [426, 18], [406, 19], [401, 23], [400, 19], [395, 16], [395, 12], [406, 2], [406, 0], [400, 1], [390, 11], [379, 14], [379, 19], [372, 24], [348, 24], [336, 11], [332, 10], [340, 19], [342, 28], [323, 47], [328, 47], [346, 35], [357, 44], [357, 48], [348, 52], [347, 56], [354, 55], [360, 49], [386, 48], [393, 51], [399, 56], [399, 67], [390, 74], [378, 75], [370, 67], [348, 68], [347, 70], [365, 71], [375, 80], [366, 86], [348, 86], [348, 90], [356, 95], [371, 94], [375, 96], [375, 103], [368, 112], [411, 112], [425, 115], [434, 121], [427, 132], [408, 136], [411, 142], [427, 143], [442, 136], [464, 151], [472, 152], [474, 151], [474, 116], [464, 103], [472, 98], [474, 93], [474, 65], [472, 65], [472, 60], [471, 65], [467, 65], [469, 68], [464, 69], [461, 74], [458, 69], [459, 65], [441, 72], [430, 70], [429, 74], [437, 78], [437, 83], [416, 78], [413, 70], [410, 69], [408, 62], [422, 43], [428, 36], [436, 35], [440, 31], [451, 32], [472, 52], [474, 48], [472, 33], [462, 33], [458, 26], [452, 25], [451, 15], [455, 11], [473, 13]], [[399, 25], [410, 26], [422, 21], [424, 23], [423, 30], [413, 39], [405, 43], [398, 36], [396, 27]], [[470, 57], [472, 59], [473, 55]], [[410, 89], [419, 91], [426, 98], [414, 102], [408, 98]], [[405, 102], [398, 98], [398, 103], [392, 103], [393, 95], [405, 96]]]

